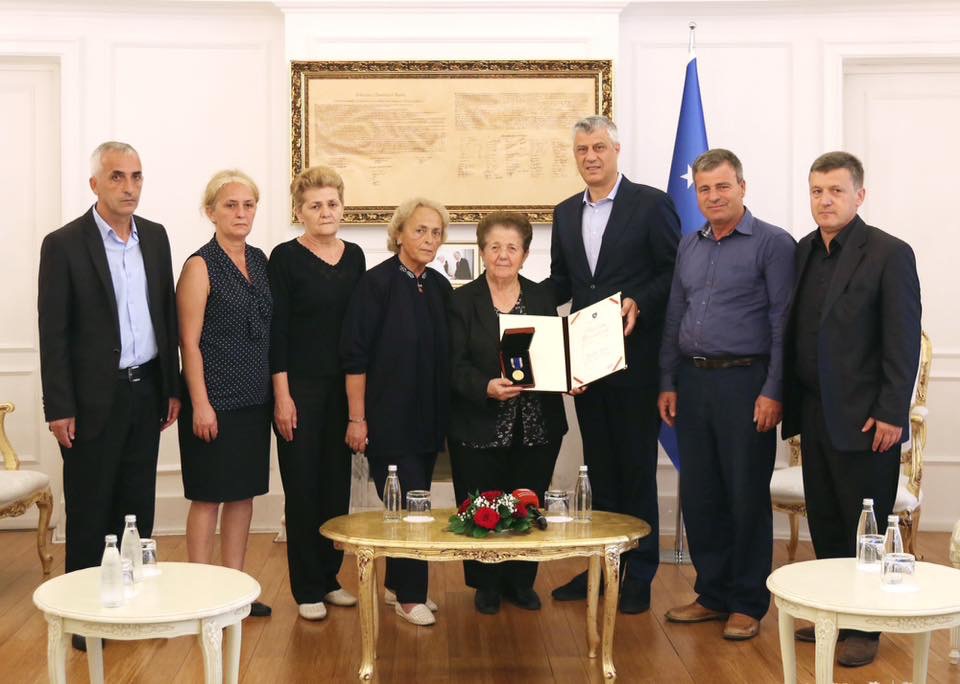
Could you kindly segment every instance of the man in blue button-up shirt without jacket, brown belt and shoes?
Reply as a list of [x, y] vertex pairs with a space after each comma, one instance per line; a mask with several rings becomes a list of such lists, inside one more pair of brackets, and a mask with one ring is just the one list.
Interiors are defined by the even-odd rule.
[[677, 429], [698, 596], [667, 619], [726, 620], [724, 638], [742, 640], [756, 636], [770, 604], [770, 476], [796, 243], [744, 206], [732, 152], [709, 150], [692, 168], [707, 224], [677, 251], [658, 405]]

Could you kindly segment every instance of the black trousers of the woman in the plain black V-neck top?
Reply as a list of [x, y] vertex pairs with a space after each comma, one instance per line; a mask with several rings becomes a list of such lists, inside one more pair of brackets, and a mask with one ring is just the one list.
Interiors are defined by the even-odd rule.
[[330, 518], [350, 508], [350, 449], [343, 438], [347, 397], [343, 378], [289, 378], [297, 406], [293, 441], [277, 434], [287, 523], [290, 590], [297, 603], [319, 603], [340, 588], [343, 552], [320, 534]]

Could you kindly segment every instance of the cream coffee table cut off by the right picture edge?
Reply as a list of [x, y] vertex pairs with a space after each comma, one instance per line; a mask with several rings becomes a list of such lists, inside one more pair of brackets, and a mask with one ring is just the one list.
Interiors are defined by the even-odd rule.
[[960, 625], [960, 570], [917, 563], [917, 590], [890, 592], [880, 575], [857, 571], [854, 558], [791, 563], [767, 578], [780, 614], [783, 681], [797, 681], [795, 617], [814, 623], [817, 684], [833, 681], [833, 656], [841, 629], [914, 635], [913, 683], [927, 681], [930, 632]]

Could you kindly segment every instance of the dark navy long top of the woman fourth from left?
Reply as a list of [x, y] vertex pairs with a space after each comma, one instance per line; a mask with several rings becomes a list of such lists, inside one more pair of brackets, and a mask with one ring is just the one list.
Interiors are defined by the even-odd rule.
[[399, 257], [360, 279], [343, 324], [347, 374], [366, 374], [367, 454], [424, 454], [443, 449], [450, 411], [453, 289], [426, 269], [418, 278]]

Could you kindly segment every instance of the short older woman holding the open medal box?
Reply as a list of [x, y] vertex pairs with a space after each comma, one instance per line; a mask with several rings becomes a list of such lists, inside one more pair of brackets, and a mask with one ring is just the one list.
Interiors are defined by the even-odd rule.
[[[567, 431], [558, 394], [524, 391], [501, 377], [500, 313], [556, 316], [553, 291], [520, 276], [533, 229], [523, 214], [494, 212], [477, 225], [486, 271], [453, 293], [450, 316], [453, 401], [450, 464], [458, 501], [474, 491], [532, 489], [543, 500]], [[464, 562], [481, 613], [500, 609], [501, 596], [537, 610], [537, 564]]]

